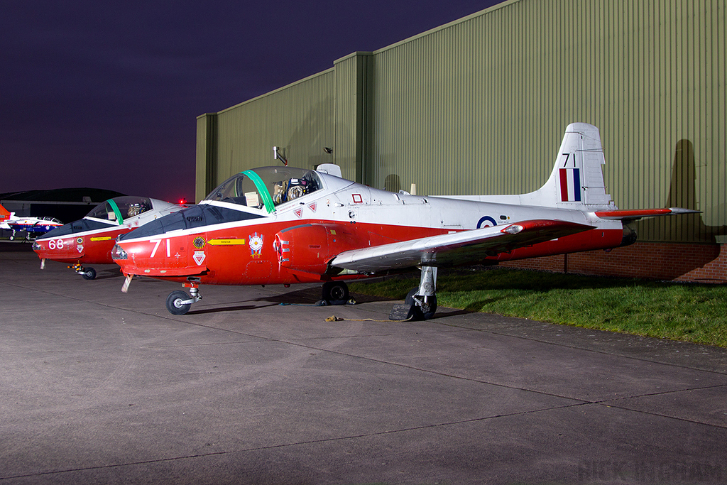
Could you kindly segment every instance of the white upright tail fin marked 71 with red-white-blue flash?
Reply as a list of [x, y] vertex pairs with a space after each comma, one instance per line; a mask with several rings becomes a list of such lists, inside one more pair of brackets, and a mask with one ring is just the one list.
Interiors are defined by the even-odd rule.
[[614, 209], [606, 193], [602, 165], [606, 163], [598, 128], [571, 123], [563, 136], [555, 167], [545, 185], [523, 194], [523, 204], [589, 211]]

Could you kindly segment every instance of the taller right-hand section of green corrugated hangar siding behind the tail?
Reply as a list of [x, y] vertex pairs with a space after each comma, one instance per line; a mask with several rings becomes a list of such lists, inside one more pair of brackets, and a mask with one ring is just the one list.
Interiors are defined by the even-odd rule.
[[727, 223], [724, 25], [721, 0], [521, 0], [382, 49], [374, 185], [532, 191], [586, 121], [619, 207], [704, 211], [641, 223], [641, 239], [712, 241]]

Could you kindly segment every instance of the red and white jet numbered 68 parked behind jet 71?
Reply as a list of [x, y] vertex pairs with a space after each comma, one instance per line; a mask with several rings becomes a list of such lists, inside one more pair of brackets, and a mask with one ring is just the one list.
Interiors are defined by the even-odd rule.
[[98, 204], [83, 219], [39, 237], [33, 250], [41, 258], [41, 269], [46, 260], [60, 261], [70, 264], [69, 268], [85, 279], [94, 279], [96, 270], [83, 265], [112, 265], [111, 249], [117, 236], [185, 207], [189, 206], [148, 197], [114, 197]]

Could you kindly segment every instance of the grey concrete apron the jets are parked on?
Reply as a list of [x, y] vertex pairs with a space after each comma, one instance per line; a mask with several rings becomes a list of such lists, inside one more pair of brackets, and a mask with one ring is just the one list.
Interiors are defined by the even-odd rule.
[[[719, 484], [727, 352], [0, 252], [0, 482]], [[281, 305], [292, 303], [292, 305]], [[335, 315], [348, 318], [326, 321]], [[375, 321], [362, 321], [372, 318]]]

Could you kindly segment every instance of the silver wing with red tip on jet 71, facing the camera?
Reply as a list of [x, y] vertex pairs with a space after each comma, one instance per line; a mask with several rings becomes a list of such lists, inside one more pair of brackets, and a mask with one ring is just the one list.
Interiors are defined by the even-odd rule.
[[526, 220], [510, 225], [352, 249], [333, 257], [329, 261], [329, 267], [377, 273], [420, 264], [430, 266], [471, 264], [501, 252], [590, 229], [593, 229], [593, 226], [562, 220]]

